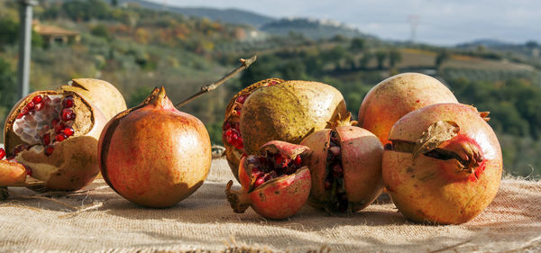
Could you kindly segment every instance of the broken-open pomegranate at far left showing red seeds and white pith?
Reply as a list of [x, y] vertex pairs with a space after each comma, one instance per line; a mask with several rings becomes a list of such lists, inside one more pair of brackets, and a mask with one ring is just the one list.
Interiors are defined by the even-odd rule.
[[5, 122], [7, 158], [50, 189], [76, 190], [99, 172], [97, 140], [105, 117], [73, 91], [38, 91], [14, 105]]

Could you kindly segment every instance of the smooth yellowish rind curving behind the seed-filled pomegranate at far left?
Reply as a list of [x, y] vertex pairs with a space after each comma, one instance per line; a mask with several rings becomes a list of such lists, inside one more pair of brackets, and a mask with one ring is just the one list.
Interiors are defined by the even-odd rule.
[[84, 96], [88, 102], [94, 104], [104, 114], [107, 120], [113, 118], [116, 113], [126, 110], [126, 103], [122, 94], [115, 86], [104, 80], [92, 78], [73, 79], [69, 81], [68, 85], [60, 86], [60, 89], [77, 92], [79, 95]]

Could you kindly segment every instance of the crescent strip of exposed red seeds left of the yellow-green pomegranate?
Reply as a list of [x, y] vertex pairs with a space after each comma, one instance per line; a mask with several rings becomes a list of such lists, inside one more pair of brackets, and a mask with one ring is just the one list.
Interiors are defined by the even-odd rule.
[[243, 104], [252, 94], [252, 92], [261, 86], [273, 86], [284, 80], [279, 78], [269, 78], [261, 80], [251, 86], [247, 86], [242, 91], [234, 95], [227, 108], [225, 109], [225, 120], [222, 125], [222, 141], [225, 147], [225, 158], [234, 177], [238, 180], [238, 169], [241, 157], [244, 154], [243, 136], [239, 126], [240, 115], [243, 112]]

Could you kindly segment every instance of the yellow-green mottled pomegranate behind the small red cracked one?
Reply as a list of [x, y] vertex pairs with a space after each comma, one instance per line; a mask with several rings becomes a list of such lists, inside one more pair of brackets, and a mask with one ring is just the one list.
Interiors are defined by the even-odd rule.
[[285, 81], [252, 92], [243, 104], [240, 129], [246, 154], [264, 143], [300, 143], [313, 131], [325, 129], [337, 115], [347, 113], [344, 97], [333, 86], [308, 81]]

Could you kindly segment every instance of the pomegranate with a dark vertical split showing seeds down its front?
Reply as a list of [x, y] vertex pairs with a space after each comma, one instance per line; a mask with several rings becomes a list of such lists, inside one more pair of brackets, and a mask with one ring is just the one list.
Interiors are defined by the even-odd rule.
[[347, 125], [350, 117], [300, 142], [311, 150], [304, 160], [312, 176], [308, 203], [326, 212], [358, 212], [383, 189], [383, 146], [370, 131]]

